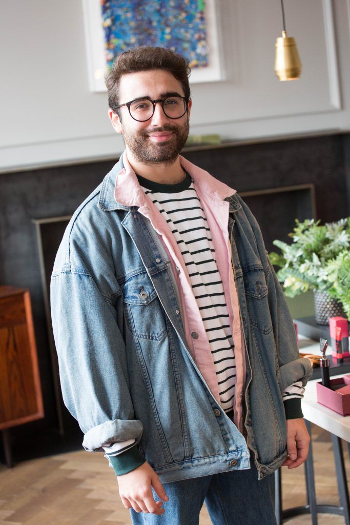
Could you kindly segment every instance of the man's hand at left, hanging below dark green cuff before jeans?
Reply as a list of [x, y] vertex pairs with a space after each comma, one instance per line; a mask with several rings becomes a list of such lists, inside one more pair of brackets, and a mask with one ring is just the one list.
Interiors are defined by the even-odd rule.
[[168, 501], [169, 498], [159, 477], [147, 461], [127, 474], [116, 476], [116, 479], [126, 509], [132, 507], [135, 512], [164, 514], [163, 501], [154, 500], [151, 487], [153, 486], [157, 495], [164, 501]]

